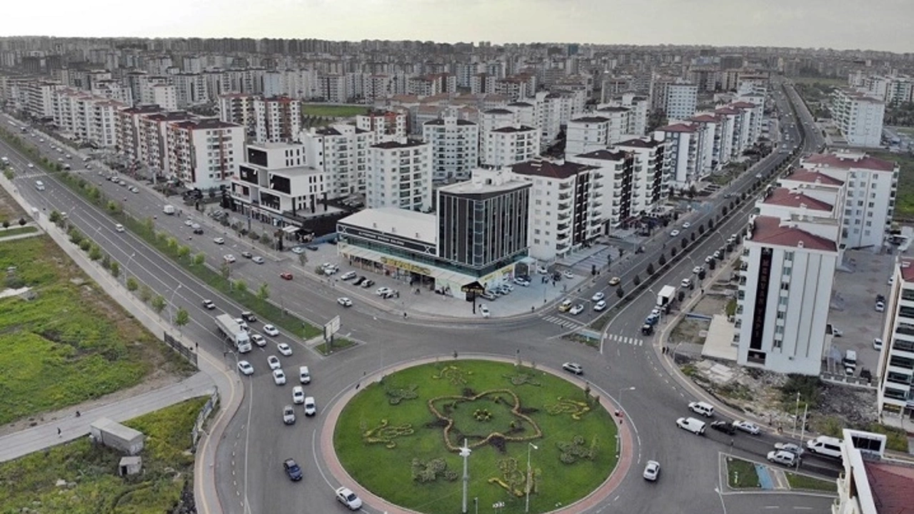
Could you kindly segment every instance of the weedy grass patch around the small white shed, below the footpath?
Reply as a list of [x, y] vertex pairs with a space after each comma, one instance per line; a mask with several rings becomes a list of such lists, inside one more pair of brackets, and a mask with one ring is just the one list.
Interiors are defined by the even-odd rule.
[[[188, 400], [124, 423], [146, 434], [140, 475], [118, 477], [121, 452], [93, 446], [87, 438], [0, 464], [0, 512], [175, 512], [182, 489], [193, 488], [190, 431], [207, 400]], [[67, 486], [57, 486], [58, 480]]]

